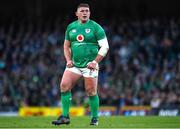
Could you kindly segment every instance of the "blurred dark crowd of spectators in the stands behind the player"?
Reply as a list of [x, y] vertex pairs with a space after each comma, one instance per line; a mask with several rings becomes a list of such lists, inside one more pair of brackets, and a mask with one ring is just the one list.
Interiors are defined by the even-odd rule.
[[[96, 20], [95, 20], [96, 21]], [[110, 50], [100, 63], [101, 105], [180, 106], [180, 19], [97, 20]], [[60, 106], [67, 21], [13, 19], [0, 26], [0, 110]], [[72, 105], [87, 105], [83, 81]]]

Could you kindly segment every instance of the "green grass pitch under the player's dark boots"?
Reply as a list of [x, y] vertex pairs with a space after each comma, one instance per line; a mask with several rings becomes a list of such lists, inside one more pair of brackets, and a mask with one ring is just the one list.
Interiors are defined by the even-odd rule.
[[54, 126], [51, 121], [55, 117], [0, 117], [0, 128], [16, 129], [16, 128], [180, 128], [180, 117], [158, 117], [158, 116], [111, 116], [100, 117], [98, 126], [90, 126], [90, 117], [71, 117], [70, 125]]

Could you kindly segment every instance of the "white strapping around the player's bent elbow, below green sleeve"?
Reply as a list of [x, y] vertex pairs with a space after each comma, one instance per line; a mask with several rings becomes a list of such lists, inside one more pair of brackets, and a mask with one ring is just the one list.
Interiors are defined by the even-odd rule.
[[107, 38], [99, 40], [98, 45], [100, 46], [98, 54], [101, 56], [105, 56], [109, 50], [109, 44]]

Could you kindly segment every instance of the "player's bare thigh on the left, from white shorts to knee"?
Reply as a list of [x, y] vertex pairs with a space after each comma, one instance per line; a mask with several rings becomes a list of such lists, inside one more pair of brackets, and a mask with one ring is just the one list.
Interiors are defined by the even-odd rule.
[[66, 92], [66, 91], [70, 91], [72, 89], [72, 87], [74, 86], [74, 84], [81, 78], [81, 75], [74, 73], [72, 71], [69, 70], [65, 70], [62, 80], [61, 80], [61, 91], [62, 92]]

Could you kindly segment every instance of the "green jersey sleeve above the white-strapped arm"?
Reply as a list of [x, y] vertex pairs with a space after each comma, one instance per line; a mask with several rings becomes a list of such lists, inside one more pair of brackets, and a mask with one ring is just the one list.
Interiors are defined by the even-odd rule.
[[95, 24], [95, 36], [97, 40], [106, 38], [104, 29], [97, 23]]

